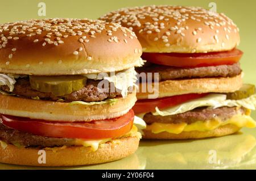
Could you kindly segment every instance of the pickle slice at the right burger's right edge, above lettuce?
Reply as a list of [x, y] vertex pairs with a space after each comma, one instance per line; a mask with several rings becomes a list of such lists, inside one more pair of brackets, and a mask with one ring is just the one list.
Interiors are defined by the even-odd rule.
[[255, 94], [255, 86], [251, 84], [243, 84], [240, 90], [237, 90], [236, 92], [230, 92], [226, 94], [227, 99], [233, 99], [233, 100], [239, 100], [239, 99], [245, 99], [249, 96]]

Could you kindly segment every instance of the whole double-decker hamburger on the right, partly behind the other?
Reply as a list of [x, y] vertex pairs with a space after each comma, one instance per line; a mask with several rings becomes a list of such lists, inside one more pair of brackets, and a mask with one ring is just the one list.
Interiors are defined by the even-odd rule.
[[141, 81], [133, 109], [147, 123], [144, 138], [217, 137], [255, 127], [255, 87], [242, 83], [239, 29], [227, 16], [153, 5], [100, 19], [129, 28], [142, 44], [147, 63], [136, 69]]

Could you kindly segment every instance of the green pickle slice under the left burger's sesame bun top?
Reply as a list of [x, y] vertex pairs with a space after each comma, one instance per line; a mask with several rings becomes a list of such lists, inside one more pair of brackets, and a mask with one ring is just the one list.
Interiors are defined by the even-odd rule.
[[82, 89], [86, 85], [86, 79], [82, 75], [30, 75], [30, 85], [32, 89], [41, 92], [52, 92], [56, 96], [61, 96]]

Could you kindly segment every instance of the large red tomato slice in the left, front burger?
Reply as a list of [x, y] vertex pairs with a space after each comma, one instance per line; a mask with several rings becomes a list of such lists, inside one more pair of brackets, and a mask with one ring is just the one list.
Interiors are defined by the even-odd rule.
[[39, 136], [102, 139], [128, 133], [133, 127], [134, 112], [130, 110], [121, 117], [89, 123], [50, 122], [9, 115], [1, 115], [1, 119], [7, 127]]

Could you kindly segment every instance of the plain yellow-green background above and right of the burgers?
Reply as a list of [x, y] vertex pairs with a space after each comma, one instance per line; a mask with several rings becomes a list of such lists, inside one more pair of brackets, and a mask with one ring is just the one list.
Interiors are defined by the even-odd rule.
[[[241, 60], [246, 83], [256, 84], [256, 1], [255, 0], [0, 0], [0, 23], [38, 18], [90, 18], [97, 19], [121, 7], [143, 5], [186, 5], [209, 9], [210, 2], [217, 5], [217, 12], [224, 12], [240, 28], [244, 54]], [[46, 16], [38, 16], [38, 3], [46, 3]]]

